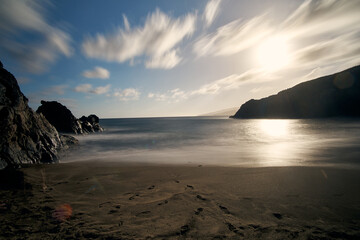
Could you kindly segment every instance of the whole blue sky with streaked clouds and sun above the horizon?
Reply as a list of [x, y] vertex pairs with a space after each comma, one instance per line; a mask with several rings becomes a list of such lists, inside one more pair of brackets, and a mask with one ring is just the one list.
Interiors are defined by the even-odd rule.
[[356, 0], [0, 0], [0, 60], [29, 105], [196, 116], [360, 63]]

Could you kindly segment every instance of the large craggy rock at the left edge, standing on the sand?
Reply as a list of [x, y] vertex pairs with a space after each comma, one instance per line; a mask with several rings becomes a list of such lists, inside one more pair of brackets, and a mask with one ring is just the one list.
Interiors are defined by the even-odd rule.
[[56, 129], [28, 106], [15, 77], [0, 68], [0, 168], [58, 161]]

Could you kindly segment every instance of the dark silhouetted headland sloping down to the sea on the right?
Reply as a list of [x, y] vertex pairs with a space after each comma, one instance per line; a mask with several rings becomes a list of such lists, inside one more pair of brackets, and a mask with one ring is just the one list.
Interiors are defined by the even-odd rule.
[[360, 117], [360, 66], [244, 103], [234, 118]]

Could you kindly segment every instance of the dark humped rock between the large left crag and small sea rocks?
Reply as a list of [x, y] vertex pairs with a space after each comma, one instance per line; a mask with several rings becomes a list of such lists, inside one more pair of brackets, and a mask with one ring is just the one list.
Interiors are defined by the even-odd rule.
[[36, 110], [42, 113], [45, 118], [59, 131], [63, 133], [84, 133], [81, 123], [71, 111], [56, 101], [41, 101], [41, 106]]

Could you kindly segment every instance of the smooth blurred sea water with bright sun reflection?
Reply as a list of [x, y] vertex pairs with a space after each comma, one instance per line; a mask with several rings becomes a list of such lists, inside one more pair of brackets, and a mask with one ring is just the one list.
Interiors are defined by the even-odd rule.
[[62, 162], [360, 167], [360, 120], [102, 119]]

